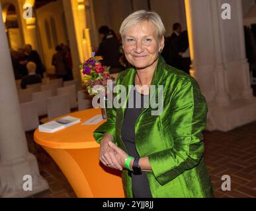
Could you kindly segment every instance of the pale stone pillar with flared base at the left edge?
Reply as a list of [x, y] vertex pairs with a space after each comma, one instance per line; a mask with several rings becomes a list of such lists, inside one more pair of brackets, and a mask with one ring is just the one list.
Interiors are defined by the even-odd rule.
[[[40, 175], [36, 158], [26, 145], [1, 5], [0, 63], [0, 196], [30, 196], [48, 189], [48, 183]], [[24, 175], [31, 176], [32, 191], [24, 191]]]

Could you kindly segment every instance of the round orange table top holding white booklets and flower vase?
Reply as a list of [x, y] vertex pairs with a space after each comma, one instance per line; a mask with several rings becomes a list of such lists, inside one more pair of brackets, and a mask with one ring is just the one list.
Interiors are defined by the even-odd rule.
[[[36, 129], [34, 132], [34, 140], [41, 146], [48, 148], [77, 149], [99, 147], [99, 144], [93, 137], [93, 131], [106, 120], [100, 121], [95, 125], [82, 125], [85, 121], [98, 114], [101, 114], [100, 108], [69, 113], [65, 116], [70, 115], [72, 117], [81, 118], [81, 122], [55, 133], [43, 133]], [[60, 119], [60, 117], [56, 119]]]

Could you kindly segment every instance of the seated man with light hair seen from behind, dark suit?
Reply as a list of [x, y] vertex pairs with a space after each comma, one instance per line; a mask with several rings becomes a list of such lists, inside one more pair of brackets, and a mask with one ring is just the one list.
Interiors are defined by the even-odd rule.
[[26, 64], [28, 75], [24, 76], [21, 80], [21, 88], [25, 89], [28, 84], [38, 84], [42, 82], [42, 77], [36, 74], [36, 63], [28, 61]]

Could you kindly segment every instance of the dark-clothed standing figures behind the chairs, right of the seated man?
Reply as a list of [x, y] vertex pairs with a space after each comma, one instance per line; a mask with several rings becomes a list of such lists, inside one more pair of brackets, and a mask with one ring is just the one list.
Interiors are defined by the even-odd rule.
[[56, 46], [56, 53], [52, 57], [52, 65], [55, 67], [57, 78], [73, 80], [73, 63], [69, 45]]

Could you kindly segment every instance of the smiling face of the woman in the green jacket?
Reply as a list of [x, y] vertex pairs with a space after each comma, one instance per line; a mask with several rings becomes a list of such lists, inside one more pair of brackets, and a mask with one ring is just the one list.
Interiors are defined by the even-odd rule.
[[159, 43], [156, 27], [148, 21], [132, 26], [126, 33], [123, 44], [126, 59], [137, 69], [153, 65], [163, 46], [164, 38]]

